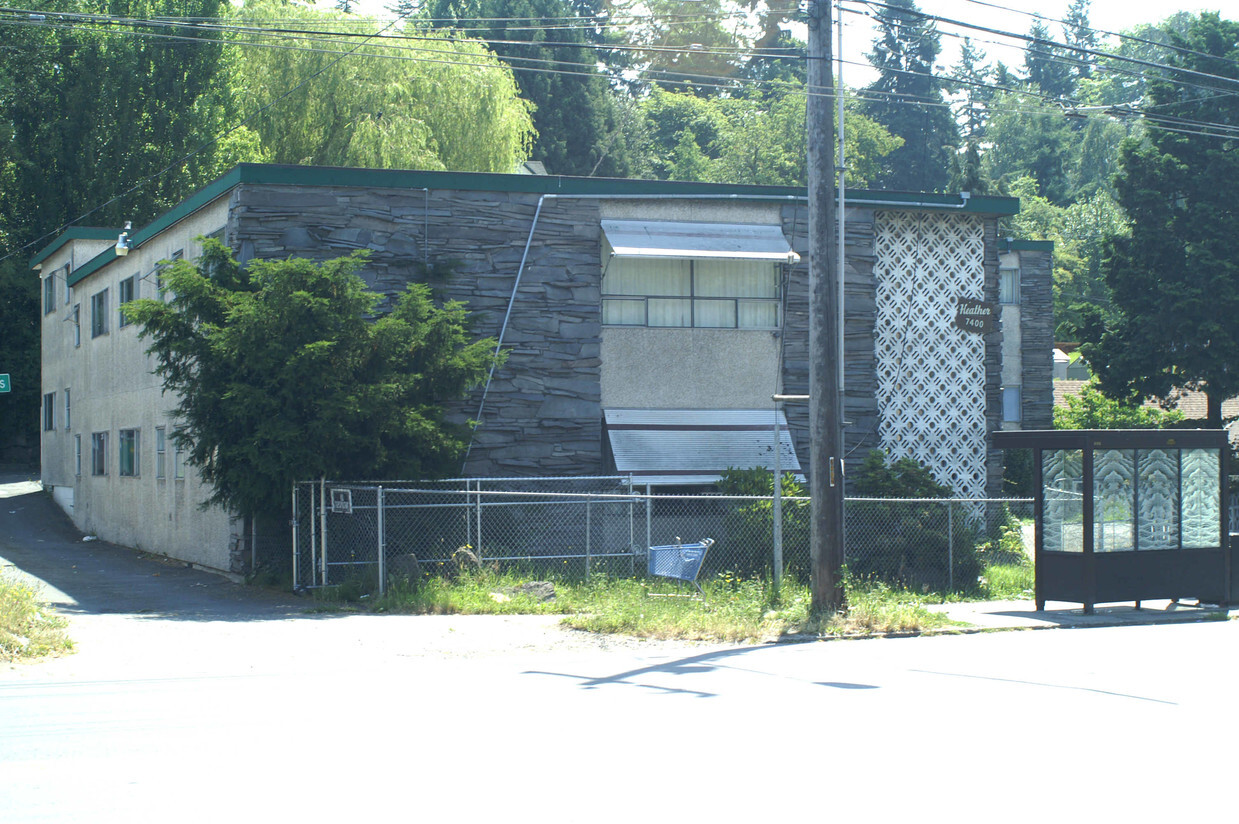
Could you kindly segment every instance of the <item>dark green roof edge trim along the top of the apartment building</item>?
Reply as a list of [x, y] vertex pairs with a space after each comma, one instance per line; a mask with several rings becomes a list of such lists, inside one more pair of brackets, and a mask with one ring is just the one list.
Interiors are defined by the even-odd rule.
[[[616, 177], [564, 177], [560, 175], [501, 175], [493, 172], [435, 172], [388, 169], [351, 169], [343, 166], [284, 166], [274, 164], [240, 164], [216, 181], [202, 187], [173, 208], [134, 232], [129, 238], [131, 249], [183, 221], [228, 191], [245, 183], [274, 186], [342, 186], [351, 188], [398, 190], [458, 190], [478, 192], [523, 192], [529, 195], [556, 195], [571, 197], [589, 196], [675, 196], [691, 198], [699, 195], [727, 196], [737, 199], [787, 201], [805, 197], [802, 187], [793, 186], [741, 186], [733, 183], [698, 183], [686, 181], [627, 180]], [[883, 192], [850, 190], [847, 199], [857, 204], [908, 206], [922, 209], [952, 209], [973, 214], [1015, 214], [1020, 211], [1020, 198], [985, 195], [933, 195], [922, 192]], [[69, 229], [73, 232], [73, 229]], [[105, 237], [119, 235], [112, 229]], [[97, 238], [97, 235], [90, 235]], [[62, 235], [40, 250], [31, 260], [36, 266], [61, 244], [73, 238]], [[74, 285], [118, 258], [115, 249], [104, 249], [69, 275]]]

